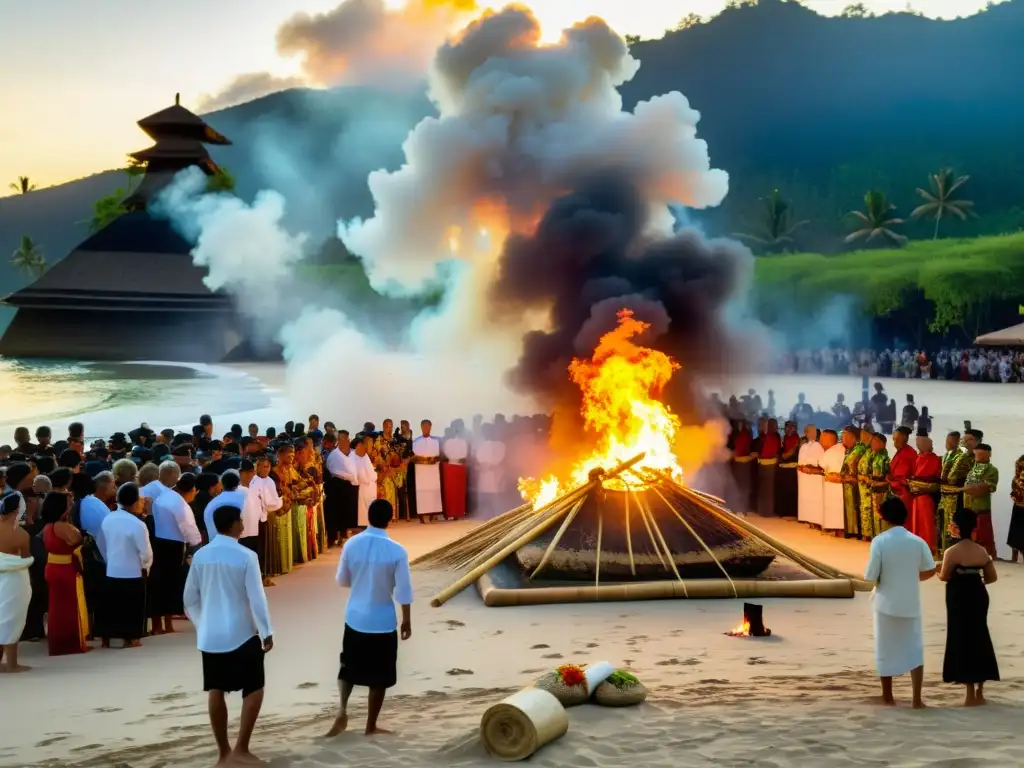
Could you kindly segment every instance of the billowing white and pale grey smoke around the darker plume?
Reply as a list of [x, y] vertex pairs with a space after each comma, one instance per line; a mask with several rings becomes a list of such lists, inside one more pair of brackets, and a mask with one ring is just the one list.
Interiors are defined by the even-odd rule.
[[[521, 7], [485, 13], [442, 45], [429, 75], [439, 117], [410, 133], [399, 170], [370, 175], [375, 215], [340, 224], [339, 236], [379, 292], [413, 295], [441, 283], [445, 299], [397, 347], [356, 330], [342, 312], [307, 305], [279, 334], [295, 407], [351, 424], [528, 410], [503, 377], [523, 332], [548, 321], [544, 312], [501, 325], [488, 316], [485, 289], [505, 238], [530, 233], [554, 199], [601, 170], [629, 174], [660, 233], [672, 231], [669, 204], [714, 206], [727, 193], [727, 175], [712, 169], [696, 137], [699, 114], [682, 94], [623, 111], [616, 88], [638, 68], [601, 19], [549, 45]], [[200, 231], [197, 263], [233, 293], [275, 291], [304, 246], [280, 225], [282, 201], [272, 194], [251, 207], [202, 200], [184, 195], [168, 204], [176, 220], [190, 222], [186, 230]], [[265, 306], [250, 311], [267, 318]]]

